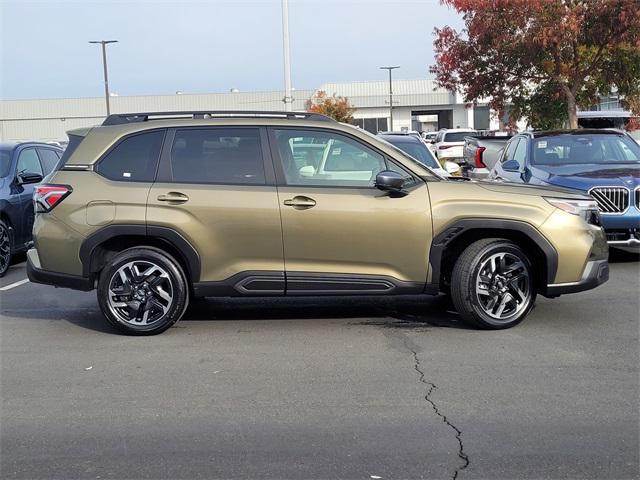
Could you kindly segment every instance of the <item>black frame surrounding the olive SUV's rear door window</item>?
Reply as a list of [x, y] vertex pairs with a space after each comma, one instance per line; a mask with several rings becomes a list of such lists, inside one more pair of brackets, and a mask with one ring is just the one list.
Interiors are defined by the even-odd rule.
[[[242, 130], [258, 130], [260, 136], [260, 148], [262, 150], [262, 161], [264, 164], [264, 183], [242, 183], [242, 182], [183, 182], [175, 181], [173, 179], [173, 169], [171, 168], [171, 149], [173, 148], [173, 141], [175, 140], [176, 132], [178, 130], [229, 130], [229, 129], [242, 129]], [[160, 153], [160, 162], [158, 166], [158, 172], [156, 175], [156, 183], [170, 183], [176, 185], [221, 185], [221, 186], [240, 186], [240, 187], [275, 187], [276, 177], [273, 169], [273, 161], [271, 160], [271, 153], [269, 151], [269, 142], [267, 139], [267, 132], [262, 125], [194, 125], [194, 126], [181, 126], [171, 127], [168, 129], [167, 135], [165, 135], [164, 145], [162, 152]]]

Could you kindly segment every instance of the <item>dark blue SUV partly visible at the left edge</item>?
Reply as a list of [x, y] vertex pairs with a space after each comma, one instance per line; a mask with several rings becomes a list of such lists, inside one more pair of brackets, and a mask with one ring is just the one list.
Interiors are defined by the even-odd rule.
[[11, 256], [30, 246], [34, 185], [55, 169], [62, 153], [47, 143], [0, 144], [0, 277]]

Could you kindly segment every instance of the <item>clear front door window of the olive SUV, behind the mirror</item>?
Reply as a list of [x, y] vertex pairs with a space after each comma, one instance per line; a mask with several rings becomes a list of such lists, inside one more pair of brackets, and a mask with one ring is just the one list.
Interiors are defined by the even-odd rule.
[[288, 185], [367, 187], [387, 169], [383, 155], [344, 135], [286, 129], [275, 136]]

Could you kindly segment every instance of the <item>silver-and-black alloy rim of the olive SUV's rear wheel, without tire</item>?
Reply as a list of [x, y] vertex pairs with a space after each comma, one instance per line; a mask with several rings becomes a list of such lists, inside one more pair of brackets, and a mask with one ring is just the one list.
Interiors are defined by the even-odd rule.
[[174, 288], [166, 270], [147, 260], [125, 263], [109, 280], [108, 305], [123, 323], [148, 326], [173, 304]]

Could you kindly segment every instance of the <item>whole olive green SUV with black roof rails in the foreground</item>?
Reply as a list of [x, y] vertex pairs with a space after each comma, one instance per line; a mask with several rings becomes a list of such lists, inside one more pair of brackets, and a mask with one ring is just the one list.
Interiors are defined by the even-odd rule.
[[608, 279], [595, 202], [450, 180], [310, 113], [109, 116], [34, 193], [33, 282], [162, 332], [207, 296], [450, 295], [480, 328]]

